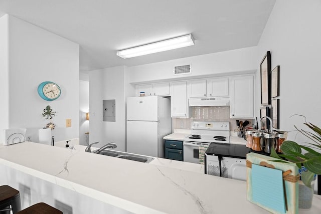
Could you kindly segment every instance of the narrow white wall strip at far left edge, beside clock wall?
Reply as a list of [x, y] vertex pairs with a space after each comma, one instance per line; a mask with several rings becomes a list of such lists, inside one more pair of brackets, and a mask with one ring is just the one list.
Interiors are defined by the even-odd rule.
[[0, 18], [0, 142], [4, 139], [4, 129], [9, 127], [9, 16]]

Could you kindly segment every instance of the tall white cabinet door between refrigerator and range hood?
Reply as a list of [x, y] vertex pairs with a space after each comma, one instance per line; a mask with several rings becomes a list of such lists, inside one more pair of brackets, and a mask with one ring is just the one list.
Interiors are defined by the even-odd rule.
[[187, 83], [171, 83], [171, 115], [172, 117], [189, 117], [189, 107], [187, 100]]

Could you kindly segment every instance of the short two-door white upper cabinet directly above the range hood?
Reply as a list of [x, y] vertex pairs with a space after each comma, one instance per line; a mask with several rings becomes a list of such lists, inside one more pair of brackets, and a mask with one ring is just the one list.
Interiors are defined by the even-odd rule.
[[187, 94], [188, 98], [228, 97], [229, 79], [224, 77], [190, 80], [188, 81]]

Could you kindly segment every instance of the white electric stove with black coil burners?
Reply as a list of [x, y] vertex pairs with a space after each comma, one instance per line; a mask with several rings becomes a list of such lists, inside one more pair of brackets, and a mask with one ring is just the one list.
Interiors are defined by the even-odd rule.
[[209, 146], [212, 142], [230, 144], [229, 122], [193, 121], [191, 135], [183, 142], [184, 161], [200, 163], [200, 146]]

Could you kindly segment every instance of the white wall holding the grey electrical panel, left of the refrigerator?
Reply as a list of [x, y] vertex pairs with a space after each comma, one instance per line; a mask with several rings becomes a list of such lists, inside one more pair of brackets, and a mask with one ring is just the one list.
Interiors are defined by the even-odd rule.
[[[90, 143], [99, 141], [97, 147], [109, 142], [117, 144], [116, 150], [125, 151], [125, 67], [91, 71], [89, 73]], [[102, 100], [116, 101], [116, 121], [102, 121]]]

